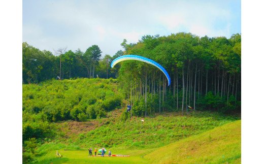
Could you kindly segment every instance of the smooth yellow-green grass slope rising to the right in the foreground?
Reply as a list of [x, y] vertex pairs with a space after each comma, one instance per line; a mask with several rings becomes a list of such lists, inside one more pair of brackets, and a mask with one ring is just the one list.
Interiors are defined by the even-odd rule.
[[241, 163], [241, 120], [156, 149], [151, 163]]

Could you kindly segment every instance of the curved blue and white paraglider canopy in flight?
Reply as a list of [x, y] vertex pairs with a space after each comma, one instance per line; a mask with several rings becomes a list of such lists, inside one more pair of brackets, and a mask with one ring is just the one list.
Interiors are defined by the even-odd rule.
[[168, 74], [168, 72], [156, 61], [151, 60], [149, 58], [146, 57], [142, 57], [142, 56], [138, 56], [138, 55], [123, 55], [120, 56], [116, 59], [114, 59], [111, 63], [111, 68], [113, 68], [115, 66], [115, 64], [117, 64], [120, 61], [124, 61], [124, 60], [139, 60], [139, 61], [143, 61], [149, 64], [154, 65], [156, 68], [158, 68], [168, 79], [168, 86], [171, 85], [171, 78]]

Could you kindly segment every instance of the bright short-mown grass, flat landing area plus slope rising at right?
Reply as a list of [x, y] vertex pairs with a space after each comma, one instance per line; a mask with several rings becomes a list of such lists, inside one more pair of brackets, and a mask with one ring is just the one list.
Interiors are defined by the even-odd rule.
[[40, 163], [241, 163], [241, 120], [216, 127], [208, 132], [194, 135], [152, 149], [129, 150], [111, 148], [113, 154], [130, 157], [91, 157], [86, 150], [50, 151]]

